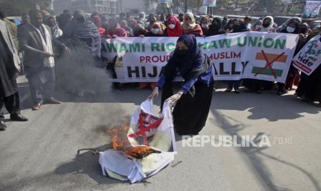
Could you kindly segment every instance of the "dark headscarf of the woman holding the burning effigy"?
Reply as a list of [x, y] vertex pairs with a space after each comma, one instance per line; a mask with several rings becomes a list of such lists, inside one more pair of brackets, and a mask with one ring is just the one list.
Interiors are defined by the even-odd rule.
[[175, 51], [173, 57], [168, 60], [168, 65], [171, 66], [173, 71], [179, 71], [182, 78], [186, 80], [193, 69], [202, 69], [205, 55], [197, 46], [196, 37], [194, 35], [182, 35], [177, 40], [177, 42], [179, 41], [186, 44], [188, 53], [181, 56]]

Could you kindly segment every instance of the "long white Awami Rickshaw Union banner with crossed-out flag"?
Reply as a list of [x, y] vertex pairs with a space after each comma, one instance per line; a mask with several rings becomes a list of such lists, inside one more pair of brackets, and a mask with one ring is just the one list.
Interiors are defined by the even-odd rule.
[[[157, 82], [176, 42], [177, 37], [107, 39], [102, 57], [113, 82]], [[246, 32], [199, 37], [197, 43], [215, 66], [215, 80], [285, 82], [298, 35]]]

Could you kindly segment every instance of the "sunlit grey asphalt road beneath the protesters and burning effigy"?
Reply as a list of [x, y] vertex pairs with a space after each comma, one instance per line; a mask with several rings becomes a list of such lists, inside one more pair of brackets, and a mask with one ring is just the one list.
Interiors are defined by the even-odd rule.
[[150, 93], [104, 86], [84, 98], [58, 91], [63, 104], [31, 111], [28, 82], [19, 77], [29, 121], [7, 120], [0, 132], [0, 190], [321, 190], [321, 108], [293, 92], [213, 96], [201, 135], [264, 135], [271, 147], [183, 147], [177, 137], [175, 161], [155, 176], [134, 184], [104, 177], [98, 156], [77, 149], [110, 147], [108, 127], [124, 123]]

